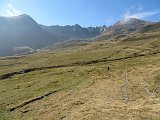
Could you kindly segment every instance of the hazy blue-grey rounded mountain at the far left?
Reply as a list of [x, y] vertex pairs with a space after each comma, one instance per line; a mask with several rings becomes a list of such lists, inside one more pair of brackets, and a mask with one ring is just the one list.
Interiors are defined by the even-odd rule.
[[0, 17], [0, 56], [13, 55], [15, 47], [39, 49], [57, 41], [28, 15]]

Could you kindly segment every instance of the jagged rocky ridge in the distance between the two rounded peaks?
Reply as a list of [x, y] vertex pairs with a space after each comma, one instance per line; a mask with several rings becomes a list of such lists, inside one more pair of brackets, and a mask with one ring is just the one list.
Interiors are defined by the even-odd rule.
[[66, 26], [44, 26], [40, 25], [44, 30], [48, 31], [52, 35], [58, 35], [60, 41], [69, 39], [87, 39], [100, 35], [107, 27], [81, 27], [80, 25], [66, 25]]

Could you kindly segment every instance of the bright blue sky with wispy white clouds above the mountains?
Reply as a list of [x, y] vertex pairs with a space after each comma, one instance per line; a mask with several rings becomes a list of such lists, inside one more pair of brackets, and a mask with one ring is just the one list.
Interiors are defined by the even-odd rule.
[[43, 25], [110, 26], [128, 18], [160, 21], [160, 0], [0, 0], [0, 16], [20, 14]]

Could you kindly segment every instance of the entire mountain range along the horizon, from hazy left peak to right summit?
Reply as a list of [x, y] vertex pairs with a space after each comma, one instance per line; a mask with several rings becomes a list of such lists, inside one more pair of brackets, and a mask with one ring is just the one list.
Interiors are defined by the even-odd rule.
[[113, 38], [132, 32], [155, 32], [160, 22], [148, 22], [135, 18], [121, 20], [112, 26], [81, 27], [80, 25], [45, 26], [38, 24], [29, 15], [0, 17], [0, 56], [9, 56], [21, 51], [41, 49], [67, 40], [90, 38]]

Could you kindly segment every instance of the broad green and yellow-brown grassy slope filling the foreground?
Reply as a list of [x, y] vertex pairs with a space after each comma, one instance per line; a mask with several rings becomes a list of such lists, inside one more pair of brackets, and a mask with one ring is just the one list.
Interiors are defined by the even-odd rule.
[[[1, 80], [0, 119], [160, 119], [160, 38], [153, 36], [89, 42], [56, 52], [1, 59], [3, 75], [77, 61], [146, 55], [38, 70]], [[9, 111], [54, 90], [60, 91]]]

